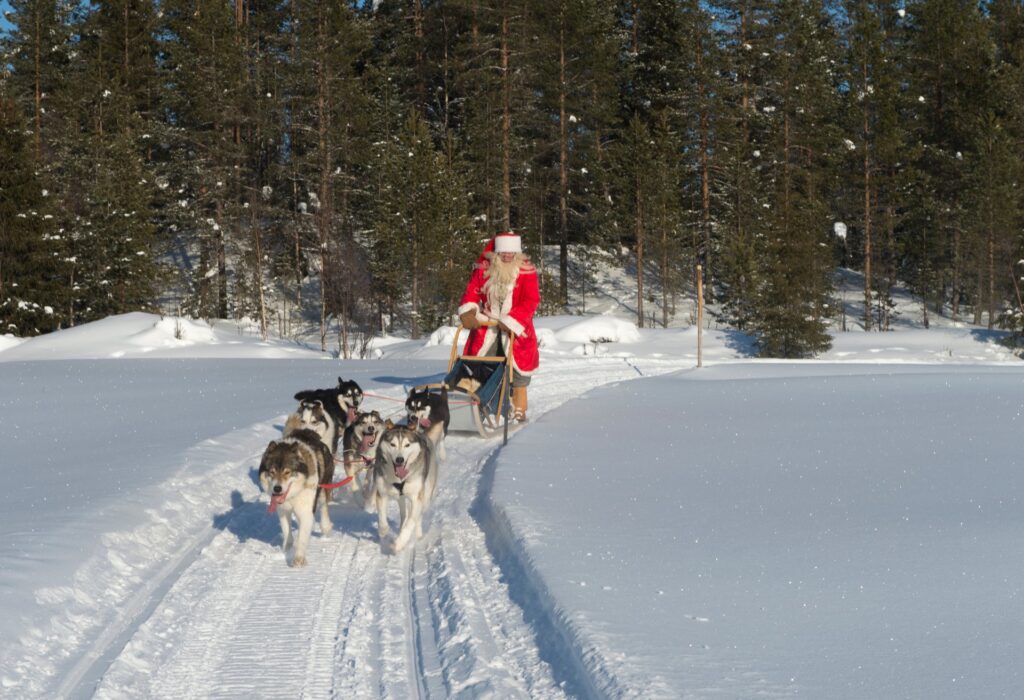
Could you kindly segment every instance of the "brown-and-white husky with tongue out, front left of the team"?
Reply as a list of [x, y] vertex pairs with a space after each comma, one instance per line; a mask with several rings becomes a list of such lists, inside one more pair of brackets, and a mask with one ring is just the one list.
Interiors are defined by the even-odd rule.
[[[292, 548], [292, 516], [299, 521], [292, 566], [306, 565], [306, 546], [313, 529], [313, 513], [319, 508], [321, 532], [332, 530], [327, 512], [327, 497], [321, 497], [321, 484], [334, 478], [334, 457], [319, 435], [299, 428], [281, 440], [271, 440], [259, 464], [259, 483], [270, 494], [270, 513], [278, 513], [282, 550], [288, 556]], [[326, 496], [326, 494], [324, 494]]]

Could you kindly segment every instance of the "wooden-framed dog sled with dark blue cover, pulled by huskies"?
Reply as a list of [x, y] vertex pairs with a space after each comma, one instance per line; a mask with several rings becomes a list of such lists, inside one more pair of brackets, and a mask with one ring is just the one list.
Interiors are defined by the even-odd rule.
[[[497, 325], [486, 321], [482, 325]], [[447, 375], [441, 384], [427, 387], [432, 392], [449, 391], [449, 432], [476, 433], [490, 438], [504, 435], [508, 440], [512, 412], [512, 362], [504, 355], [463, 355], [459, 337], [465, 326], [458, 325], [452, 341]], [[503, 332], [503, 346], [512, 354], [514, 336]], [[513, 428], [514, 430], [514, 428]]]

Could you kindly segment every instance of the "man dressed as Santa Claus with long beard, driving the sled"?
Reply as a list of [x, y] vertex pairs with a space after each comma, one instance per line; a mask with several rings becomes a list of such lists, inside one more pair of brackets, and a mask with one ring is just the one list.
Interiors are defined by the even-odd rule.
[[[526, 387], [540, 363], [534, 330], [534, 313], [540, 302], [537, 268], [522, 253], [522, 238], [512, 231], [499, 233], [483, 249], [466, 285], [459, 318], [470, 330], [463, 354], [506, 354], [500, 331], [514, 337], [512, 408], [520, 423], [526, 420]], [[480, 324], [487, 320], [498, 325]]]

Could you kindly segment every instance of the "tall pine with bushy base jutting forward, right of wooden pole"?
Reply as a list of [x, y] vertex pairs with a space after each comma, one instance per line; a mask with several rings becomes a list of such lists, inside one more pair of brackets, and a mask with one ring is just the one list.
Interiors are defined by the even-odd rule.
[[772, 127], [774, 196], [754, 327], [761, 354], [803, 357], [830, 344], [836, 42], [827, 13], [813, 0], [778, 3], [770, 28], [776, 39], [762, 112]]

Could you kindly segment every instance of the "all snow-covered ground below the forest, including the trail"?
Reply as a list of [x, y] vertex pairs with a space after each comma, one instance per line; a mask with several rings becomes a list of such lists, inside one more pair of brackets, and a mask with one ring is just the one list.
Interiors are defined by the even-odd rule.
[[361, 361], [147, 314], [0, 338], [0, 696], [1019, 694], [998, 334], [780, 362], [713, 326], [695, 368], [695, 329], [605, 312], [539, 319], [531, 422], [449, 437], [415, 548], [341, 497], [304, 569], [256, 480], [292, 395], [344, 377], [397, 414], [451, 329]]

